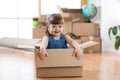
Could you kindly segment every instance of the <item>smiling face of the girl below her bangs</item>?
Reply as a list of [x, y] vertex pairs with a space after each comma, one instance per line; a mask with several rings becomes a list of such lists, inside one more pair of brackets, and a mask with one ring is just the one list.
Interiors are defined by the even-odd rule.
[[49, 24], [48, 31], [52, 36], [59, 37], [63, 33], [63, 24]]

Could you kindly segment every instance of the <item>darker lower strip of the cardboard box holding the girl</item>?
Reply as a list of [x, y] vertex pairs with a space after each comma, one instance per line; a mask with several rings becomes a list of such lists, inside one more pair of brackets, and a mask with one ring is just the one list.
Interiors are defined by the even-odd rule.
[[37, 77], [75, 77], [82, 74], [83, 67], [37, 68]]

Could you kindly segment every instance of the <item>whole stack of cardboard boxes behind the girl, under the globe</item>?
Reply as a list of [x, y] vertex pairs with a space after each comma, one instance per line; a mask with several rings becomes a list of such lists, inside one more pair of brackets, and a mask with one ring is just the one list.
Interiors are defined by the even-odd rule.
[[65, 33], [72, 32], [77, 36], [81, 36], [80, 40], [76, 40], [78, 43], [89, 40], [99, 42], [99, 45], [86, 48], [84, 52], [101, 52], [99, 24], [87, 23], [86, 18], [82, 15], [82, 9], [59, 8], [59, 10], [65, 20]]

